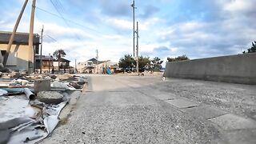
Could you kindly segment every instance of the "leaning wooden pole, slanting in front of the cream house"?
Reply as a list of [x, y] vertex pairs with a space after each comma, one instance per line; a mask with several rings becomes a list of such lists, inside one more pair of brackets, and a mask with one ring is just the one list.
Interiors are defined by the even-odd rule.
[[24, 12], [24, 10], [25, 10], [25, 8], [26, 8], [27, 2], [28, 2], [28, 0], [26, 0], [26, 1], [24, 2], [23, 6], [22, 6], [22, 11], [21, 11], [21, 13], [18, 15], [18, 19], [17, 19], [16, 24], [15, 24], [15, 26], [14, 26], [13, 33], [10, 35], [10, 40], [9, 40], [9, 43], [8, 43], [8, 46], [7, 46], [7, 49], [6, 49], [6, 54], [5, 54], [5, 56], [4, 56], [4, 58], [3, 58], [3, 62], [2, 62], [3, 66], [6, 66], [6, 62], [7, 62], [9, 53], [10, 53], [10, 48], [11, 48], [11, 45], [13, 44], [13, 42], [14, 42], [14, 35], [15, 35], [17, 29], [18, 29], [18, 24], [19, 24], [19, 22], [20, 22], [21, 19], [22, 19], [22, 14], [23, 14], [23, 12]]

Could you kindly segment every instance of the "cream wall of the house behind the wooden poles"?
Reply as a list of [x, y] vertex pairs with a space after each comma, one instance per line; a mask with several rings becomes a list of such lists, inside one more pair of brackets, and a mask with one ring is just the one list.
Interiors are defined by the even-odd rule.
[[[0, 50], [7, 50], [7, 46], [7, 44], [0, 44]], [[29, 46], [12, 45], [9, 55], [10, 56], [7, 60], [6, 67], [10, 68], [11, 70], [28, 70]]]

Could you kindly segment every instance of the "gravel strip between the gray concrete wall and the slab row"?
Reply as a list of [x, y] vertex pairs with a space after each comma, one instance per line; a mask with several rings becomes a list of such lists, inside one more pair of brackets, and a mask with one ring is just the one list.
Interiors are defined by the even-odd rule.
[[153, 87], [256, 120], [256, 86], [170, 78]]

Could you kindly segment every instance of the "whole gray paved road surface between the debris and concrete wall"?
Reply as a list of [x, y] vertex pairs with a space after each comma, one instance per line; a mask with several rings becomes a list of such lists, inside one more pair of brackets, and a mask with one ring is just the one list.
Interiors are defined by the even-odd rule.
[[42, 143], [256, 143], [256, 86], [91, 75]]

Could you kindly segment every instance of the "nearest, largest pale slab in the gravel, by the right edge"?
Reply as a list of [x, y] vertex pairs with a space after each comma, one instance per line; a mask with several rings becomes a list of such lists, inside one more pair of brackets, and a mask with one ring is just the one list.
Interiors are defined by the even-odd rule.
[[224, 114], [217, 118], [210, 118], [211, 122], [222, 127], [223, 130], [255, 129], [256, 122], [250, 118], [242, 118], [235, 114]]

